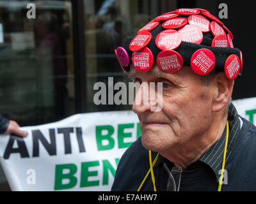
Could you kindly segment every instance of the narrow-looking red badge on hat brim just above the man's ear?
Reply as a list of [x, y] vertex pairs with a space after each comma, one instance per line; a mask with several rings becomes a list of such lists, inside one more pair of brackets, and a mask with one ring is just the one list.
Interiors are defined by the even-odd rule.
[[225, 75], [228, 79], [233, 80], [237, 77], [240, 69], [240, 61], [237, 55], [232, 54], [225, 62]]

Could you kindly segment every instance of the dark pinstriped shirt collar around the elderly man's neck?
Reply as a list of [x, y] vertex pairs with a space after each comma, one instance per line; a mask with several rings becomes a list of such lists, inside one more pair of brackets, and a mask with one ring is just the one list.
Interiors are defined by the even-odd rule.
[[[227, 154], [226, 154], [226, 162], [228, 162], [228, 158], [234, 149], [234, 145], [236, 140], [239, 136], [240, 130], [240, 120], [237, 113], [235, 106], [231, 103], [228, 108], [228, 126], [229, 126], [229, 134], [228, 134], [228, 145], [227, 145]], [[216, 175], [216, 179], [218, 180], [220, 177], [219, 171], [221, 170], [221, 164], [223, 160], [223, 154], [225, 149], [225, 140], [227, 134], [227, 125], [218, 141], [216, 141], [200, 158], [198, 161], [202, 161], [203, 163], [207, 164], [211, 167]], [[160, 164], [169, 162], [166, 158], [159, 155], [159, 159], [155, 167], [159, 166]]]

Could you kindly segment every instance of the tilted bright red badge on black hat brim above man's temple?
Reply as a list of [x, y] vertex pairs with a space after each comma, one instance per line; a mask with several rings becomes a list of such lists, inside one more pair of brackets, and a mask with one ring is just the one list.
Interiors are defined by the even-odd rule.
[[202, 48], [192, 55], [190, 64], [196, 74], [207, 75], [214, 68], [215, 56], [211, 50]]

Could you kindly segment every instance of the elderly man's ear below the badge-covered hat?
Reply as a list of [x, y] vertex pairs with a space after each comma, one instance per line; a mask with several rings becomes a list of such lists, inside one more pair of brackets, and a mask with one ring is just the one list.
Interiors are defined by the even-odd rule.
[[215, 95], [212, 111], [219, 112], [230, 101], [234, 87], [234, 80], [229, 80], [224, 72], [218, 73], [214, 78]]

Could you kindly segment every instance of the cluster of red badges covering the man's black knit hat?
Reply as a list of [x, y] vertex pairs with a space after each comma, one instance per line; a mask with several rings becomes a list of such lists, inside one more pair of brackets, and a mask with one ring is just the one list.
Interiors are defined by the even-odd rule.
[[[204, 33], [211, 32], [214, 36], [211, 47], [234, 48], [232, 33], [209, 11], [200, 8], [180, 8], [154, 18], [133, 38], [129, 49], [132, 51], [132, 64], [138, 71], [148, 71], [154, 64], [154, 56], [147, 45], [152, 40], [150, 32], [158, 26], [163, 27], [164, 31], [156, 36], [156, 46], [162, 50], [156, 57], [156, 63], [160, 69], [168, 73], [175, 73], [182, 68], [182, 56], [175, 51], [182, 41], [200, 44], [204, 40]], [[123, 68], [129, 64], [129, 56], [127, 57], [125, 52], [121, 48], [116, 50], [118, 61]], [[225, 63], [227, 78], [234, 79], [237, 74], [241, 74], [242, 55], [239, 57], [228, 57]], [[198, 75], [207, 75], [214, 68], [215, 62], [211, 50], [204, 48], [196, 50], [192, 55], [191, 68]]]

